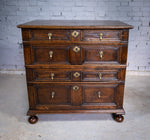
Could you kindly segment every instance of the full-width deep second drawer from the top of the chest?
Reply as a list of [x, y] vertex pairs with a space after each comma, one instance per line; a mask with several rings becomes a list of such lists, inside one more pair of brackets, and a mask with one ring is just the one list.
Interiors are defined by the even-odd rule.
[[25, 64], [126, 64], [127, 45], [24, 45]]

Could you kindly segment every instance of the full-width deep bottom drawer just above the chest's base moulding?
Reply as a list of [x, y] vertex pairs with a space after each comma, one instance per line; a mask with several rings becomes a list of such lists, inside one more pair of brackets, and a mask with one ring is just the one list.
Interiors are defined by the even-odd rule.
[[29, 84], [30, 109], [86, 110], [122, 108], [123, 83]]

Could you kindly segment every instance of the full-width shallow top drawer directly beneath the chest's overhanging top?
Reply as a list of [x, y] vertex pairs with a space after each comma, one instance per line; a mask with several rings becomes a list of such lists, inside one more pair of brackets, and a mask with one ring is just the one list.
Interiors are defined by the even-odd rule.
[[22, 34], [24, 41], [82, 41], [100, 43], [128, 40], [128, 30], [22, 29]]

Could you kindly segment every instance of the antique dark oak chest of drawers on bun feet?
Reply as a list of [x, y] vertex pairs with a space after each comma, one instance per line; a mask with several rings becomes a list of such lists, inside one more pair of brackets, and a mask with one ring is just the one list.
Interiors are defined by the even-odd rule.
[[43, 113], [113, 113], [123, 121], [128, 34], [120, 21], [35, 20], [22, 28], [29, 122]]

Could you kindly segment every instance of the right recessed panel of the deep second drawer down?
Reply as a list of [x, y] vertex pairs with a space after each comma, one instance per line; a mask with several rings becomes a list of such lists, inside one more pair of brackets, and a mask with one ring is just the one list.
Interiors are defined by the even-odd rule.
[[119, 46], [83, 46], [85, 63], [119, 63]]

